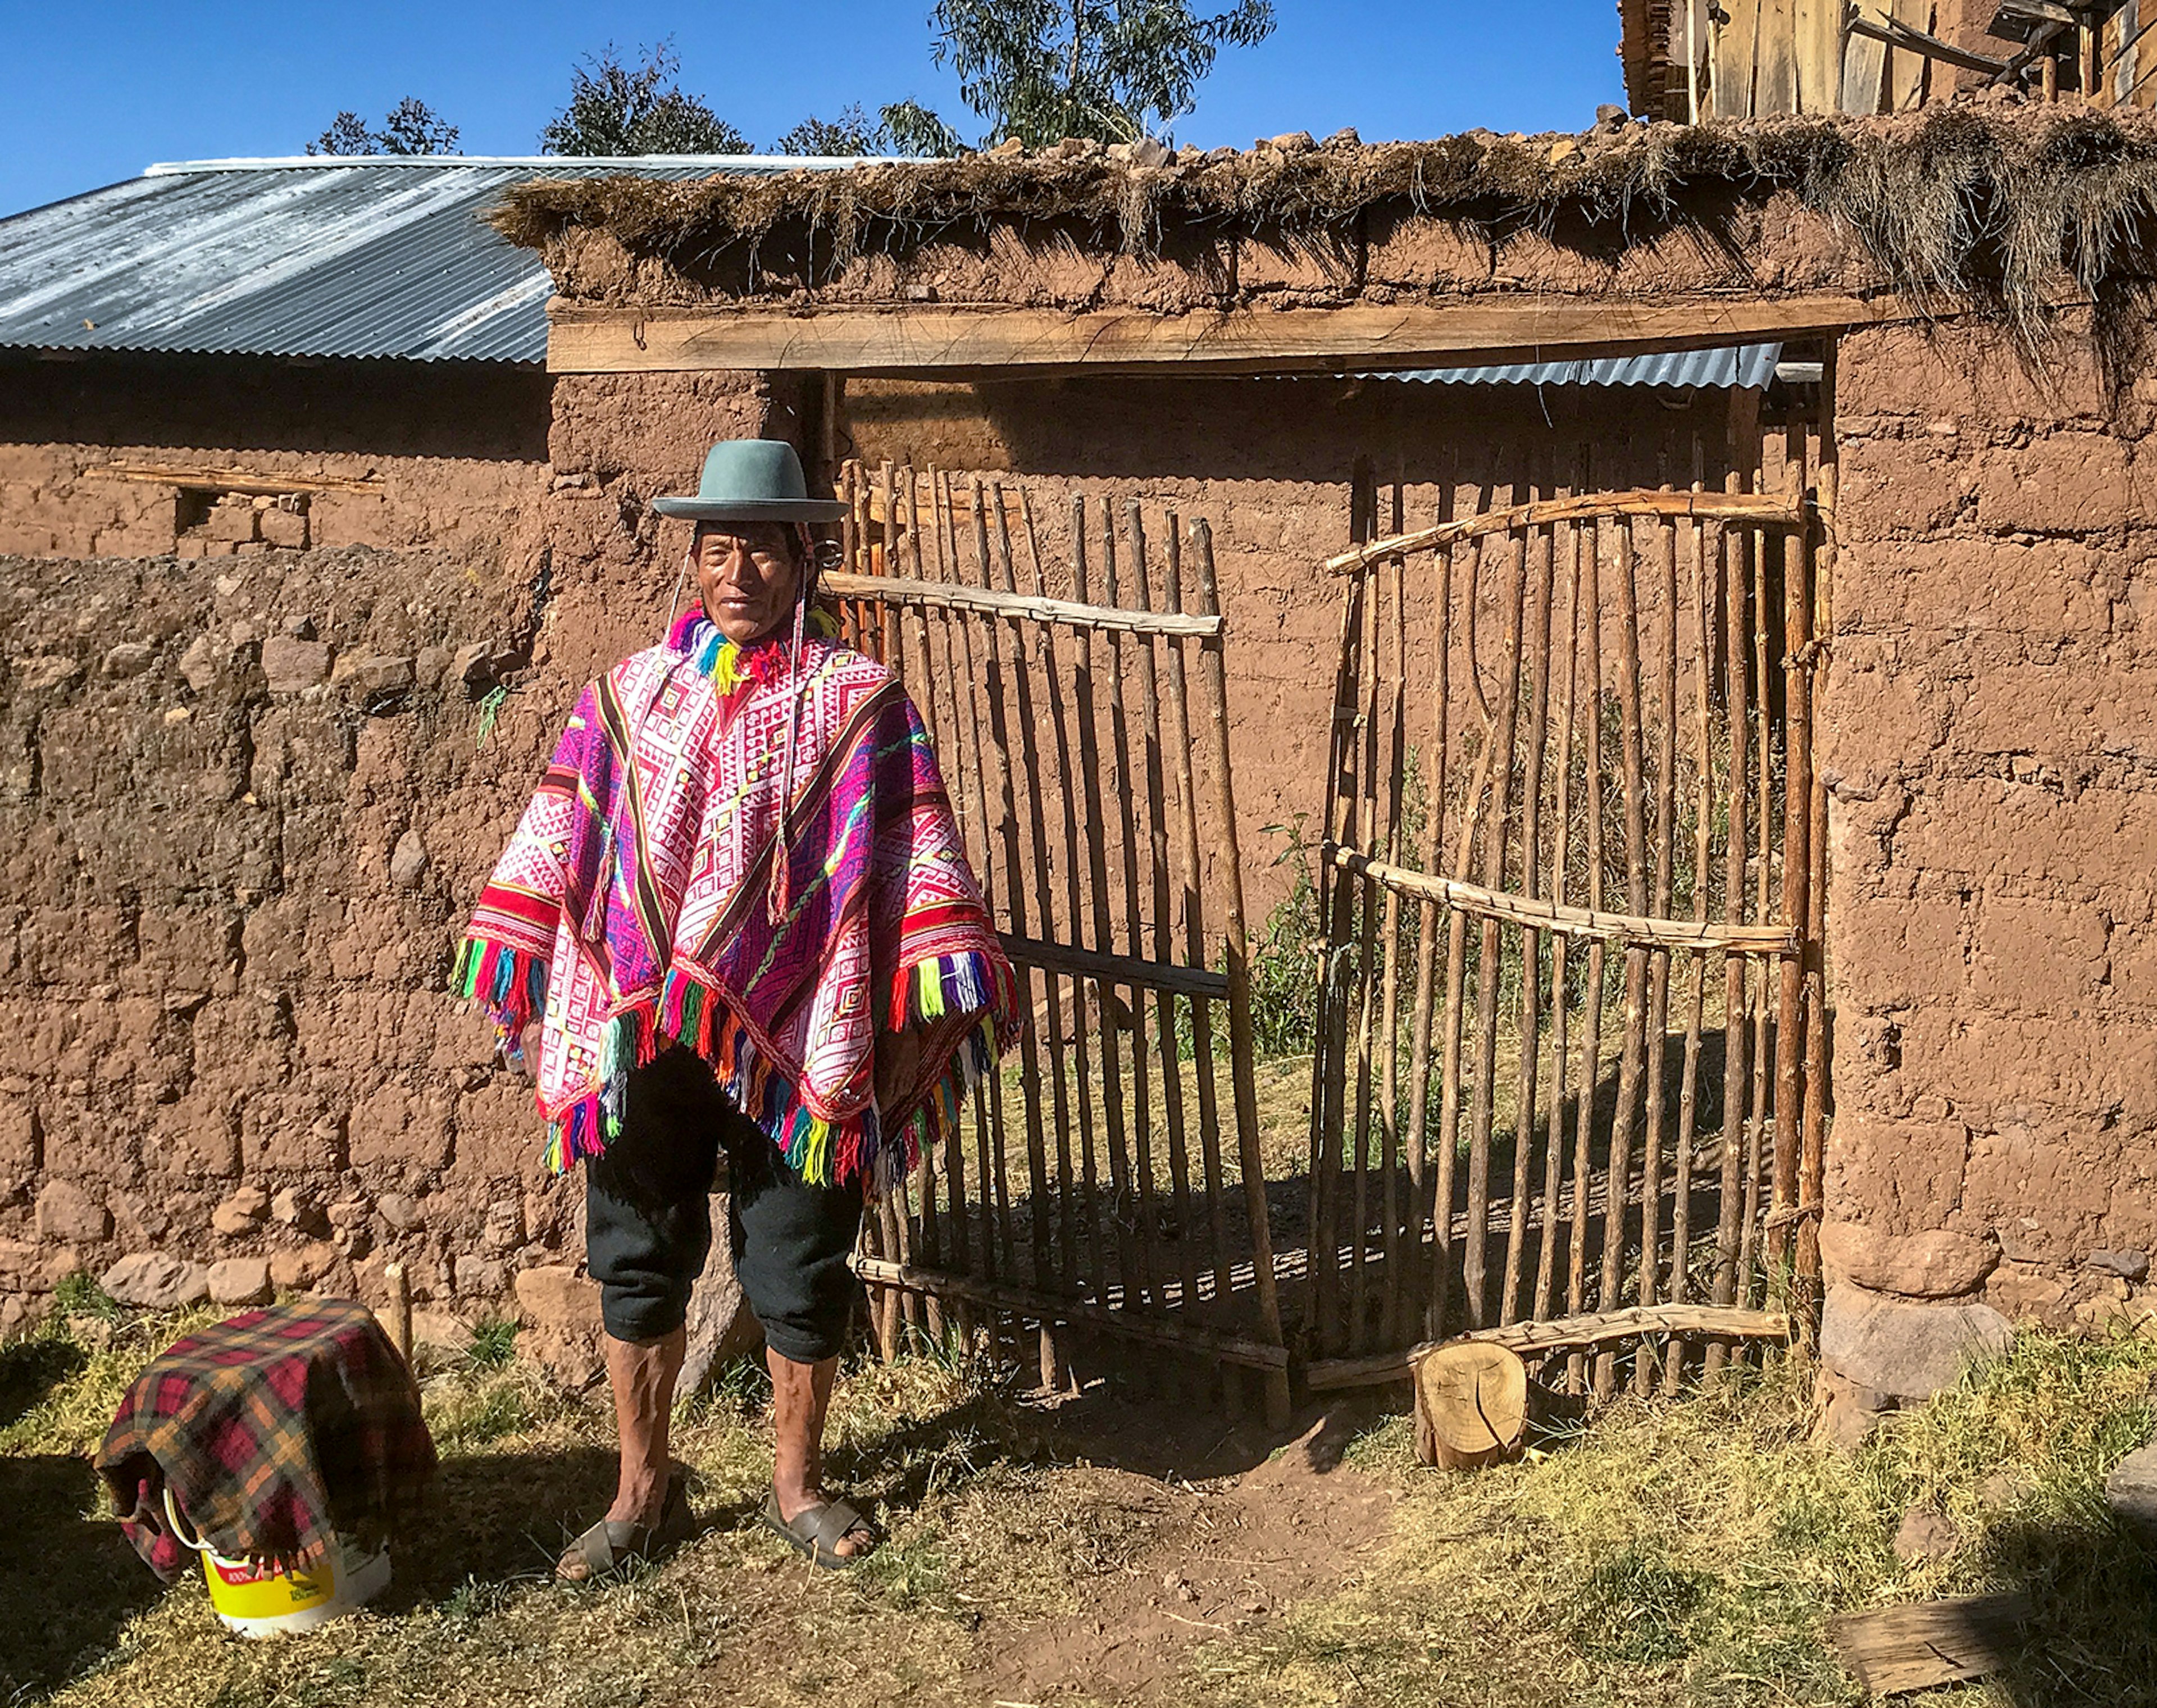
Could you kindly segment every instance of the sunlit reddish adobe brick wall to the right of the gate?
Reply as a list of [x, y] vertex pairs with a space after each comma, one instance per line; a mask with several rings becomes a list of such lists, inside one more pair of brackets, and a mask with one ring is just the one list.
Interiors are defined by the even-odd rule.
[[2090, 1253], [2157, 1251], [2157, 442], [2146, 382], [2047, 369], [1842, 345], [1827, 1214], [2092, 1322], [2142, 1290]]

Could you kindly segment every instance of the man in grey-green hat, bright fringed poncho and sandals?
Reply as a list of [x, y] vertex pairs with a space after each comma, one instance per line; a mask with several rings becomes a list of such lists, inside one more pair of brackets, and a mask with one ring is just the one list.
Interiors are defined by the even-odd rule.
[[843, 505], [789, 444], [736, 440], [654, 509], [697, 524], [697, 602], [578, 699], [457, 962], [535, 1061], [550, 1162], [587, 1165], [621, 1479], [569, 1581], [692, 1533], [667, 1423], [720, 1154], [772, 1372], [764, 1520], [820, 1566], [874, 1546], [820, 1469], [863, 1195], [1016, 1027], [928, 731], [815, 608], [807, 524]]

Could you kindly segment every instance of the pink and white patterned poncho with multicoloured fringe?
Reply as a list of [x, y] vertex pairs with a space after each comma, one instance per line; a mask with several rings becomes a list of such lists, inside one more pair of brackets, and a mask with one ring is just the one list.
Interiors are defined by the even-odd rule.
[[[682, 1042], [807, 1180], [882, 1190], [1016, 1035], [919, 712], [848, 647], [789, 653], [690, 610], [593, 681], [479, 899], [457, 988], [511, 1048], [544, 1016], [557, 1171], [606, 1147], [628, 1072]], [[878, 1031], [902, 1027], [921, 1072], [878, 1108]]]

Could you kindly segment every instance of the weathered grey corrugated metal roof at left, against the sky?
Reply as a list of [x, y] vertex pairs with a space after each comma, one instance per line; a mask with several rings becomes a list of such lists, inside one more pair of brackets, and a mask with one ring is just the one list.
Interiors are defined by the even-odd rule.
[[485, 222], [537, 177], [770, 155], [190, 160], [0, 220], [0, 347], [546, 360], [546, 267]]

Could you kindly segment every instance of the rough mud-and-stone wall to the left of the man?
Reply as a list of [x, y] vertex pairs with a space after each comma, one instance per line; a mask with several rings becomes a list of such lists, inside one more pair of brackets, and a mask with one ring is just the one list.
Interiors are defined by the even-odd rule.
[[664, 619], [643, 500], [792, 416], [574, 384], [531, 500], [453, 543], [0, 559], [0, 1333], [123, 1257], [220, 1303], [401, 1259], [423, 1307], [585, 1322], [580, 1199], [451, 953], [578, 688]]

